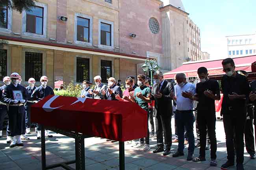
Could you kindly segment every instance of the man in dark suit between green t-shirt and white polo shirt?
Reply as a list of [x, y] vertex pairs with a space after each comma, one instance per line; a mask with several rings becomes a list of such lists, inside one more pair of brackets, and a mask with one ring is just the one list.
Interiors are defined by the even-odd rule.
[[155, 101], [156, 115], [156, 137], [158, 148], [153, 153], [163, 152], [163, 134], [165, 137], [165, 151], [163, 155], [171, 154], [172, 145], [172, 130], [171, 130], [171, 116], [172, 116], [172, 98], [170, 93], [173, 86], [170, 82], [163, 79], [163, 73], [156, 71], [154, 73], [154, 81], [156, 82], [152, 88], [152, 94], [149, 97]]

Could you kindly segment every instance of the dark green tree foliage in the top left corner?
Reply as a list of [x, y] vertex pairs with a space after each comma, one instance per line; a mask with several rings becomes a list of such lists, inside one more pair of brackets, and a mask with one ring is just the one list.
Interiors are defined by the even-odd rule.
[[[31, 8], [35, 6], [35, 1], [36, 0], [0, 0], [0, 22], [4, 22], [5, 20], [5, 13], [1, 10], [2, 7], [14, 9], [22, 13], [23, 9], [30, 11]], [[7, 43], [6, 40], [0, 40], [0, 49]]]

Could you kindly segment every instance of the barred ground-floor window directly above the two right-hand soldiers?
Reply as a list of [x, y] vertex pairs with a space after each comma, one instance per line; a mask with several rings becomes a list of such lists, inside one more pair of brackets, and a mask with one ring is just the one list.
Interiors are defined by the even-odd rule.
[[43, 54], [25, 52], [25, 80], [33, 77], [40, 81], [43, 75]]

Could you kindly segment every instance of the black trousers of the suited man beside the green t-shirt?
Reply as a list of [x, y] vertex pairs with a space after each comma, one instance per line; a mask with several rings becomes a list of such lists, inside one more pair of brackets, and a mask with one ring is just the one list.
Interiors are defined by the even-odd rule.
[[165, 137], [165, 148], [171, 149], [172, 146], [172, 128], [171, 113], [156, 115], [156, 137], [158, 146], [163, 147], [163, 135]]

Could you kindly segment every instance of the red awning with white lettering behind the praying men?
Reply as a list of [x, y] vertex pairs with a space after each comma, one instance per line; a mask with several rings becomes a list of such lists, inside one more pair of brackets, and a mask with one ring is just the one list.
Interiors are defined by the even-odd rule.
[[[256, 71], [256, 55], [233, 58], [236, 70], [244, 70], [248, 73]], [[224, 75], [221, 60], [204, 60], [197, 62], [185, 62], [182, 66], [164, 74], [164, 79], [174, 79], [177, 73], [185, 73], [186, 77], [197, 77], [197, 69], [206, 67], [210, 76]]]

